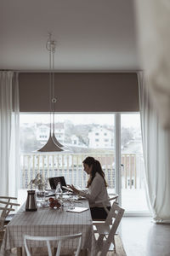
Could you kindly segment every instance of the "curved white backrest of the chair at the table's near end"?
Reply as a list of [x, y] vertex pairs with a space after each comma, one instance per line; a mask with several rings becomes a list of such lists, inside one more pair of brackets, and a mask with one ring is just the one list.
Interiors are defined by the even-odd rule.
[[29, 247], [27, 245], [27, 240], [30, 241], [46, 241], [47, 242], [47, 247], [48, 247], [48, 256], [52, 256], [52, 249], [50, 246], [50, 241], [58, 241], [58, 246], [57, 246], [57, 252], [56, 256], [59, 256], [60, 250], [61, 250], [61, 242], [66, 241], [69, 239], [76, 239], [78, 238], [78, 246], [77, 246], [77, 251], [75, 256], [78, 256], [81, 250], [82, 246], [82, 233], [75, 234], [75, 235], [68, 235], [68, 236], [24, 236], [24, 244], [26, 248], [26, 253], [27, 256], [31, 256], [31, 253], [29, 251]]

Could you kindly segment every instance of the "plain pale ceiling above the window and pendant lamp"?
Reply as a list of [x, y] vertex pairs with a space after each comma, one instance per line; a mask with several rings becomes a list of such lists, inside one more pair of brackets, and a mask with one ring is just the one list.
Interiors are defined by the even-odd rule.
[[139, 69], [133, 0], [0, 0], [0, 69]]

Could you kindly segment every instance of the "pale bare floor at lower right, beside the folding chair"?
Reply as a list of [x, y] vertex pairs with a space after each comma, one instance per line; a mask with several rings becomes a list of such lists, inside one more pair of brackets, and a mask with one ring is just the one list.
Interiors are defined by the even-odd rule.
[[127, 256], [170, 256], [170, 224], [149, 217], [124, 217], [119, 230]]

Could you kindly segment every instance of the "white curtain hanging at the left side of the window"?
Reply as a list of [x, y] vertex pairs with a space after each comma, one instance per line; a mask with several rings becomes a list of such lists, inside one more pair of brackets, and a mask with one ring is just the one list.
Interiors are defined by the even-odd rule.
[[18, 73], [0, 71], [0, 195], [17, 196], [20, 187]]

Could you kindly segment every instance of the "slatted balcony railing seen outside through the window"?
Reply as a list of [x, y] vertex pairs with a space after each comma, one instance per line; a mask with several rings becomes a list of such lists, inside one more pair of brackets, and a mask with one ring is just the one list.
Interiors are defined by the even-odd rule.
[[[88, 176], [83, 172], [82, 160], [89, 154], [21, 154], [20, 188], [27, 189], [31, 179], [41, 173], [42, 177], [65, 176], [66, 183], [86, 187]], [[113, 154], [90, 154], [99, 160], [109, 188], [115, 188], [115, 156]], [[122, 188], [140, 189], [144, 177], [143, 158], [140, 154], [122, 154]]]

